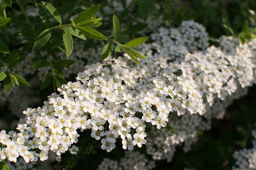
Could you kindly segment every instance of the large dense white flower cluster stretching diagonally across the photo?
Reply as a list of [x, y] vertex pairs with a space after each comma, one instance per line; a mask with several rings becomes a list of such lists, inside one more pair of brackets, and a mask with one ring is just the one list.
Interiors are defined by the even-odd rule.
[[204, 27], [193, 21], [160, 28], [151, 39], [139, 49], [147, 56], [141, 65], [126, 54], [87, 65], [77, 82], [63, 84], [42, 108], [25, 110], [18, 133], [0, 132], [0, 159], [44, 161], [50, 150], [60, 156], [78, 142], [78, 130], [91, 129], [108, 152], [120, 137], [124, 149], [147, 143], [154, 159], [171, 161], [175, 146], [189, 150], [198, 131], [209, 129], [211, 119], [222, 117], [255, 80], [255, 40], [222, 37], [220, 47], [207, 48]]

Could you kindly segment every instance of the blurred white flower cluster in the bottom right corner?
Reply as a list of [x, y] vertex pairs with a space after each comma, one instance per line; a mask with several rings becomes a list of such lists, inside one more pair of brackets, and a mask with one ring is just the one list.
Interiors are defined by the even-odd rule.
[[251, 149], [243, 148], [234, 153], [236, 166], [233, 166], [232, 170], [256, 170], [256, 130], [252, 130], [252, 136], [254, 140]]

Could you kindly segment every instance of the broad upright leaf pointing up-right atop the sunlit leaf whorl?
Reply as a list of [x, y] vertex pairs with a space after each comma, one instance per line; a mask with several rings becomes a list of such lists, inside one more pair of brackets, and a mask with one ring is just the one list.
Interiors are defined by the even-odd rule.
[[79, 15], [77, 15], [76, 18], [74, 19], [74, 23], [79, 24], [85, 20], [91, 19], [99, 11], [100, 8], [101, 8], [101, 5], [95, 5], [79, 13]]

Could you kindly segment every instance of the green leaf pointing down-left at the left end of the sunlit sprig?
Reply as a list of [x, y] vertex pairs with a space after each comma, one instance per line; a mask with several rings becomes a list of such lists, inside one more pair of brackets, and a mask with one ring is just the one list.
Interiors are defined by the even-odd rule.
[[34, 43], [32, 50], [36, 51], [36, 50], [40, 49], [42, 46], [44, 46], [47, 43], [47, 41], [51, 38], [51, 36], [52, 36], [52, 30], [45, 29], [36, 38], [36, 42]]

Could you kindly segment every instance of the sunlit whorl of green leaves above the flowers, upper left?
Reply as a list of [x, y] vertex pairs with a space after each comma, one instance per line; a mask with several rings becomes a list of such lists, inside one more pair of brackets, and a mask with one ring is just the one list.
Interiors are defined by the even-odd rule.
[[[77, 15], [74, 20], [73, 18], [71, 18], [70, 24], [62, 25], [62, 18], [58, 10], [47, 2], [42, 2], [42, 4], [51, 13], [51, 15], [58, 21], [60, 25], [47, 28], [43, 32], [41, 32], [36, 38], [36, 41], [33, 46], [33, 51], [36, 51], [42, 48], [51, 38], [52, 30], [55, 30], [55, 29], [63, 30], [63, 43], [64, 43], [67, 57], [71, 55], [73, 50], [72, 35], [78, 38], [81, 38], [82, 40], [86, 40], [85, 35], [97, 40], [107, 40], [107, 38], [103, 34], [101, 34], [96, 29], [92, 28], [92, 27], [101, 25], [101, 22], [99, 22], [101, 18], [92, 19], [96, 15], [96, 13], [99, 11], [101, 5], [95, 5], [93, 7], [86, 9], [85, 11], [79, 13], [79, 15]], [[39, 11], [40, 18], [44, 22], [45, 26], [48, 27], [49, 18], [47, 18], [48, 17], [47, 13], [43, 8], [41, 8], [41, 4], [36, 4], [36, 7]]]

